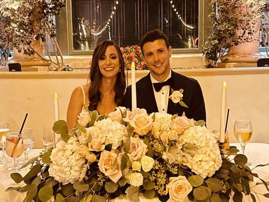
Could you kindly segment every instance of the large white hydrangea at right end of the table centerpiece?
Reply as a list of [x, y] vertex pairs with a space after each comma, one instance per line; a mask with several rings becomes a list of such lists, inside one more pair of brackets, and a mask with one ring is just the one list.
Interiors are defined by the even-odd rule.
[[[222, 165], [222, 158], [218, 143], [214, 139], [205, 126], [194, 126], [185, 130], [185, 132], [179, 136], [179, 142], [182, 146], [185, 157], [182, 159], [182, 163], [188, 166], [194, 173], [201, 175], [203, 178], [211, 177]], [[196, 148], [197, 151], [189, 152], [188, 148], [184, 148], [184, 145], [188, 145], [189, 148]]]

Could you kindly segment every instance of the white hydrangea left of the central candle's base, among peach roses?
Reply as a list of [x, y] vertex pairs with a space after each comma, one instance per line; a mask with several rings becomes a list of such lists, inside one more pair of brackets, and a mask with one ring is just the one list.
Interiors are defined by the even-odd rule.
[[94, 122], [94, 126], [100, 129], [100, 132], [105, 136], [105, 144], [111, 144], [113, 149], [121, 145], [122, 140], [127, 136], [126, 127], [117, 121], [111, 119], [103, 119]]

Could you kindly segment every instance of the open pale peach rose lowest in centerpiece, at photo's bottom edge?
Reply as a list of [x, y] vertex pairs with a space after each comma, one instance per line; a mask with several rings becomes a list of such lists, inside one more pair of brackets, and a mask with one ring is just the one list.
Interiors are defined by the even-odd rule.
[[184, 201], [191, 192], [192, 186], [185, 176], [170, 177], [166, 185], [166, 194], [169, 193], [168, 202]]

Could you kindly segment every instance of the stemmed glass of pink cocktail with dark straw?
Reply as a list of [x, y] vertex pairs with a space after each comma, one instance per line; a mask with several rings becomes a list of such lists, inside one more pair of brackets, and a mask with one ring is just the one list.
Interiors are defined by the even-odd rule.
[[23, 137], [22, 135], [19, 135], [19, 132], [9, 133], [7, 134], [6, 144], [7, 155], [14, 160], [14, 166], [8, 168], [8, 171], [18, 171], [20, 168], [18, 165], [18, 158], [22, 155], [24, 150]]

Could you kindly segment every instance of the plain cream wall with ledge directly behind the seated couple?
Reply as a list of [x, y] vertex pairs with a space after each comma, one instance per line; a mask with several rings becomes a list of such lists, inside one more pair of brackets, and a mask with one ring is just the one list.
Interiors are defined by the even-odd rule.
[[[269, 69], [206, 69], [177, 72], [197, 79], [202, 87], [207, 127], [219, 129], [222, 83], [227, 82], [227, 107], [230, 108], [228, 131], [235, 142], [233, 124], [250, 119], [252, 142], [269, 143]], [[73, 89], [87, 82], [87, 72], [20, 72], [0, 73], [0, 120], [9, 121], [12, 130], [19, 129], [25, 113], [25, 127], [32, 127], [35, 146], [42, 146], [42, 126], [54, 122], [53, 94], [59, 95], [60, 119], [66, 112]], [[145, 76], [147, 72], [137, 72]], [[130, 75], [129, 75], [130, 76]], [[130, 81], [129, 81], [130, 83]]]

